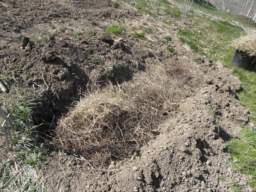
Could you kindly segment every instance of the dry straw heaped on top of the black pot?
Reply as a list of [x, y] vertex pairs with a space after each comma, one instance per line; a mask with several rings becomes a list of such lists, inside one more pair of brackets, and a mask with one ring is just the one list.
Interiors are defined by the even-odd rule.
[[248, 53], [250, 56], [256, 56], [256, 34], [248, 34], [232, 41], [233, 47]]

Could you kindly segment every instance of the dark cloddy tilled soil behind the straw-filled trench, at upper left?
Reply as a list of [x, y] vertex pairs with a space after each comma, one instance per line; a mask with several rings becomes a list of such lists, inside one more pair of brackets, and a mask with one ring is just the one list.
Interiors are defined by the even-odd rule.
[[[92, 81], [129, 80], [154, 56], [131, 35], [105, 32], [125, 19], [142, 17], [127, 5], [110, 0], [4, 3], [1, 69], [22, 81], [40, 102], [34, 109], [36, 122], [51, 122]], [[7, 87], [9, 95], [17, 94]]]

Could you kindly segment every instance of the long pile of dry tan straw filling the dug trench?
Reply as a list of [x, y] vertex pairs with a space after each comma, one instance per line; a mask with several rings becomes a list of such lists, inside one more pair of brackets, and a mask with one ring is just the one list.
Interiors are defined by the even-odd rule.
[[179, 64], [160, 64], [150, 71], [122, 85], [107, 85], [85, 94], [59, 120], [55, 143], [94, 165], [126, 157], [144, 144], [200, 78]]

